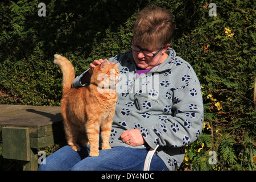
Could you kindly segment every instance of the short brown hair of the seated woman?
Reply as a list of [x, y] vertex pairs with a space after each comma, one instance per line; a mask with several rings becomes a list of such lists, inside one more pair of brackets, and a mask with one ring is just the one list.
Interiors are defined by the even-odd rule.
[[173, 32], [172, 13], [161, 7], [140, 11], [133, 27], [133, 36], [141, 47], [163, 47], [171, 42]]

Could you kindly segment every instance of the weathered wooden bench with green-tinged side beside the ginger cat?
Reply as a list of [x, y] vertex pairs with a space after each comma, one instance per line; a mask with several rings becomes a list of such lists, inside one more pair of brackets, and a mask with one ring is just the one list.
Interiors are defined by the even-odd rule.
[[65, 141], [60, 107], [0, 105], [3, 158], [38, 169], [38, 148]]

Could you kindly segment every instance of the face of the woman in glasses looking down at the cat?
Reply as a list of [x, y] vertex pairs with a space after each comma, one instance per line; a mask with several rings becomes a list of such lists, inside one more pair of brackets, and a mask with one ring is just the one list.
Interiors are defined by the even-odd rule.
[[[156, 48], [156, 47], [152, 47], [152, 46], [141, 47], [141, 46], [139, 46], [139, 43], [137, 43], [135, 39], [133, 40], [133, 45], [135, 47], [142, 49], [143, 51], [149, 51], [152, 53], [156, 53], [160, 49], [160, 48]], [[162, 49], [160, 49], [160, 51], [154, 57], [145, 55], [143, 53], [143, 51], [135, 51], [134, 49], [132, 49], [133, 50], [133, 59], [139, 68], [152, 69], [156, 65], [163, 63], [163, 61], [166, 60], [168, 55], [167, 55], [167, 53], [165, 53], [165, 51], [167, 50], [167, 48], [169, 46], [170, 46], [170, 44], [167, 44], [166, 46], [164, 46]]]

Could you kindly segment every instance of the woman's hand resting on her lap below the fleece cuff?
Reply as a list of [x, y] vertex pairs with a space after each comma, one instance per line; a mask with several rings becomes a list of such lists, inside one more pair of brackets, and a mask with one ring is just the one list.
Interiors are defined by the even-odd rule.
[[138, 129], [126, 130], [120, 135], [122, 141], [130, 146], [141, 146], [146, 141], [142, 137], [141, 131]]

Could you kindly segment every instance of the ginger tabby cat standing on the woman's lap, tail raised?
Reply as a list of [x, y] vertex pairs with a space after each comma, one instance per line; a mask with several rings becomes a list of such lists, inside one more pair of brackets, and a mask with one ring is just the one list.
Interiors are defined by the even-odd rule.
[[111, 148], [109, 138], [117, 101], [115, 85], [119, 80], [118, 65], [104, 61], [94, 68], [89, 85], [71, 88], [75, 79], [73, 65], [63, 56], [54, 55], [54, 57], [53, 62], [59, 65], [63, 72], [61, 114], [67, 142], [75, 151], [81, 150], [77, 141], [81, 144], [89, 142], [89, 155], [98, 156], [100, 127], [102, 150]]

